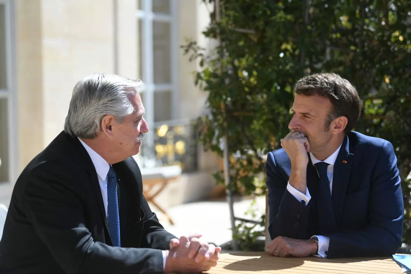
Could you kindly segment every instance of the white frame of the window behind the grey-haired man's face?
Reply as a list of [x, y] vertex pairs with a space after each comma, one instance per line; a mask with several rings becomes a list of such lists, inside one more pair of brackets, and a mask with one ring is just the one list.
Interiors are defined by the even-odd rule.
[[[152, 12], [152, 0], [140, 0], [142, 9], [136, 10], [136, 20], [141, 20], [142, 33], [138, 33], [141, 39], [142, 60], [140, 74], [144, 81], [143, 105], [145, 108], [145, 120], [151, 130], [146, 134], [144, 145], [148, 150], [154, 149], [154, 92], [170, 90], [172, 94], [171, 120], [178, 119], [178, 3], [177, 0], [169, 0], [170, 14]], [[154, 56], [153, 56], [153, 21], [170, 23], [170, 71], [171, 83], [154, 83]], [[164, 121], [166, 122], [166, 121]], [[157, 124], [158, 122], [156, 122]], [[152, 150], [154, 151], [154, 150]], [[148, 155], [145, 155], [149, 157]], [[154, 154], [153, 154], [154, 156]]]

